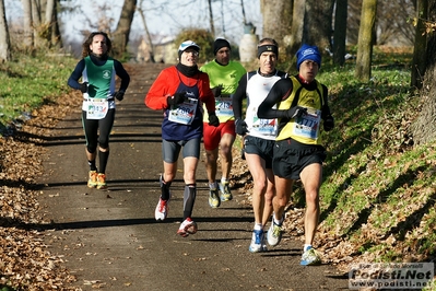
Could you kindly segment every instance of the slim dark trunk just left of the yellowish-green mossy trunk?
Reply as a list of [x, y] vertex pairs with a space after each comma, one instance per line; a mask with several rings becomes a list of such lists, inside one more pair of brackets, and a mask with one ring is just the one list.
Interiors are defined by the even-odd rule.
[[346, 18], [347, 18], [347, 0], [337, 0], [337, 9], [334, 13], [334, 32], [333, 32], [333, 63], [343, 66], [345, 62], [345, 39], [346, 39]]

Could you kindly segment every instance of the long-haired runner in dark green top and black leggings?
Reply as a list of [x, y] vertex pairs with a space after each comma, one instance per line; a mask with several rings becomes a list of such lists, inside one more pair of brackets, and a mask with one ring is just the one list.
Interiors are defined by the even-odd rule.
[[[108, 56], [111, 42], [106, 33], [90, 34], [82, 45], [83, 58], [68, 79], [68, 85], [83, 94], [82, 124], [90, 165], [87, 187], [106, 189], [106, 165], [109, 158], [109, 135], [115, 119], [115, 98], [121, 101], [130, 77], [121, 62]], [[115, 78], [121, 79], [116, 91]], [[79, 83], [79, 80], [82, 82]], [[97, 150], [98, 148], [98, 150]], [[98, 155], [98, 170], [95, 160]]]

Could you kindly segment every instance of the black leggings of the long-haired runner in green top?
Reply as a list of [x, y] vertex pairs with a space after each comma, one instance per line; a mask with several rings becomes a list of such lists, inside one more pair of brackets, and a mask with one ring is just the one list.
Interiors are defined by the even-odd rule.
[[85, 131], [86, 149], [90, 153], [94, 153], [98, 144], [102, 149], [109, 147], [109, 135], [114, 119], [115, 108], [109, 109], [103, 119], [86, 119], [86, 112], [82, 110], [82, 126]]

